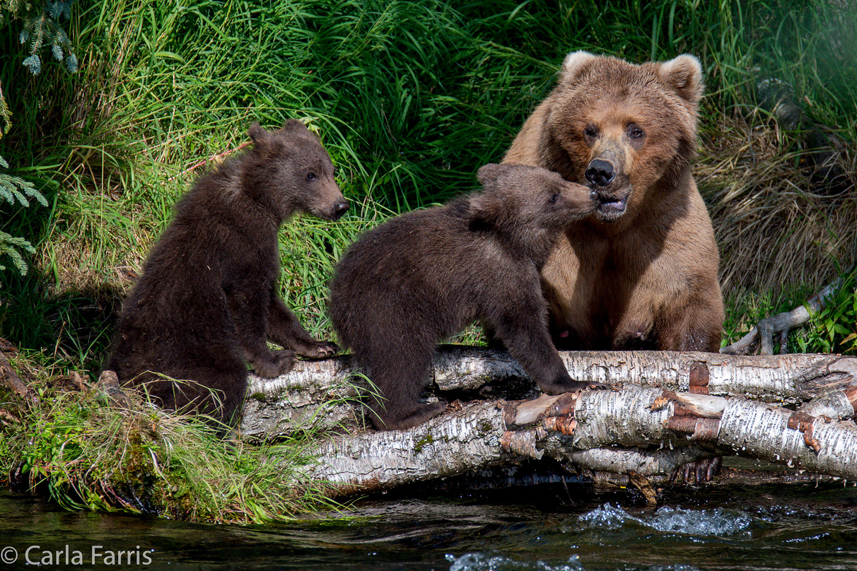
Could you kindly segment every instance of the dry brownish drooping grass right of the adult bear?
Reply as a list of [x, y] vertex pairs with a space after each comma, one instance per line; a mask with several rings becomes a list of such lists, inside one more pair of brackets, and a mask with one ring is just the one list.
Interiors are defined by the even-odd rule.
[[[826, 194], [773, 122], [724, 117], [703, 134], [694, 175], [709, 206], [724, 291], [814, 289], [854, 261], [857, 193]], [[849, 159], [854, 179], [854, 159]]]

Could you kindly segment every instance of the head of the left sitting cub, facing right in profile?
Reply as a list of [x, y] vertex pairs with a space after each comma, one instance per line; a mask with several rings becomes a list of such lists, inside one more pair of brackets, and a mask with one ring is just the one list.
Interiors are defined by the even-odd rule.
[[335, 170], [321, 142], [297, 119], [268, 132], [253, 123], [253, 140], [244, 168], [244, 192], [272, 209], [280, 219], [293, 211], [336, 220], [348, 202], [334, 180]]

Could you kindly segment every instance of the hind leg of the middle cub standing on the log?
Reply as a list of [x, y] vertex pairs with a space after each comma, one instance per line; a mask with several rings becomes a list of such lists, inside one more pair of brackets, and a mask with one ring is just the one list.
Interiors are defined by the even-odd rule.
[[363, 360], [376, 389], [371, 396], [372, 421], [381, 431], [401, 431], [421, 425], [446, 410], [443, 402], [419, 400], [428, 377], [434, 345], [428, 348], [397, 345], [402, 344], [391, 343], [379, 355]]

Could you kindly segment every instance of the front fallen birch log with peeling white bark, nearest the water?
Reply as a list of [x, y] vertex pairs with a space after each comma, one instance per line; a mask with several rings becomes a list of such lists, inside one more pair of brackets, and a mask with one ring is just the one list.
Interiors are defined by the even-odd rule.
[[[857, 387], [838, 392], [853, 415]], [[483, 402], [407, 431], [335, 437], [319, 453], [309, 475], [339, 495], [546, 456], [668, 476], [704, 456], [740, 455], [857, 479], [857, 426], [738, 397], [628, 387]]]

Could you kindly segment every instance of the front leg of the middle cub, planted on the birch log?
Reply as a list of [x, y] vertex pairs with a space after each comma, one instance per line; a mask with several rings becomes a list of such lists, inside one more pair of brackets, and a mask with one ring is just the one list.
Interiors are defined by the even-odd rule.
[[589, 387], [606, 389], [600, 383], [572, 380], [554, 348], [548, 327], [542, 322], [543, 314], [543, 309], [538, 305], [524, 303], [505, 312], [494, 322], [494, 330], [509, 349], [509, 354], [518, 360], [524, 371], [548, 395], [561, 395]]

